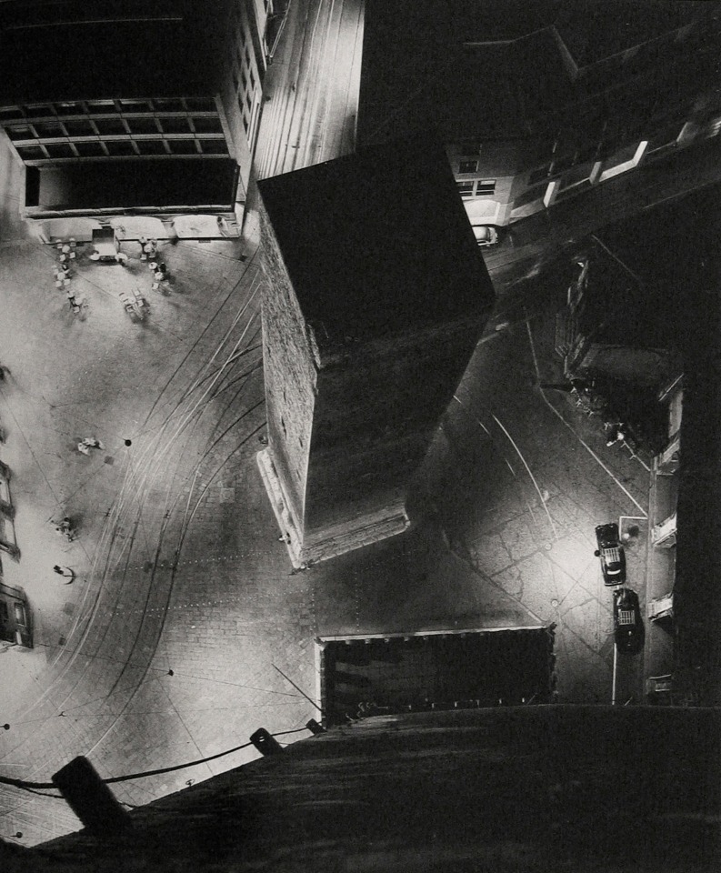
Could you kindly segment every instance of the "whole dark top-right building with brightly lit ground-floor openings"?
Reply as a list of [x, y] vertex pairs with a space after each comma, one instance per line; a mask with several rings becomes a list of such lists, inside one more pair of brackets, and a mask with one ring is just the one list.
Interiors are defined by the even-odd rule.
[[[415, 65], [411, 91], [397, 63], [366, 70], [359, 143], [433, 125], [446, 144], [479, 241], [487, 226], [582, 197], [606, 181], [663, 162], [721, 130], [716, 3], [539, 4], [506, 20], [458, 4]], [[390, 15], [370, 0], [366, 50], [381, 55]], [[412, 8], [408, 30], [433, 28]], [[623, 21], [624, 26], [617, 26]], [[404, 69], [404, 73], [406, 70]]]

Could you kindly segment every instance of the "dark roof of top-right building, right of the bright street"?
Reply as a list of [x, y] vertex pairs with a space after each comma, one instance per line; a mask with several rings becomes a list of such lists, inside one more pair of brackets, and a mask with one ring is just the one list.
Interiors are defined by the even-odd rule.
[[[609, 85], [575, 79], [717, 4], [659, 0], [367, 0], [358, 141], [435, 125], [457, 137], [515, 138]], [[555, 31], [554, 31], [555, 28]], [[561, 37], [570, 57], [556, 39]], [[668, 53], [662, 53], [666, 57]], [[555, 124], [555, 123], [553, 123]]]

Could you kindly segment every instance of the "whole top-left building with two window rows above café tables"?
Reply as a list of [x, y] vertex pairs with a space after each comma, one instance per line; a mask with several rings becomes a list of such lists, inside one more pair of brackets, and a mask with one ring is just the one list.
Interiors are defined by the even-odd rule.
[[277, 15], [256, 0], [4, 4], [0, 126], [41, 236], [84, 238], [87, 218], [125, 237], [237, 236]]

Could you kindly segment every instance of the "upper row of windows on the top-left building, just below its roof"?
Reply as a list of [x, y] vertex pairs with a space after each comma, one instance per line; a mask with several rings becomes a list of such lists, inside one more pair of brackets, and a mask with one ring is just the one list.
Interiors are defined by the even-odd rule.
[[5, 125], [12, 140], [56, 139], [59, 136], [114, 136], [147, 134], [222, 134], [223, 125], [217, 115], [141, 115], [125, 118], [45, 119], [25, 125]]

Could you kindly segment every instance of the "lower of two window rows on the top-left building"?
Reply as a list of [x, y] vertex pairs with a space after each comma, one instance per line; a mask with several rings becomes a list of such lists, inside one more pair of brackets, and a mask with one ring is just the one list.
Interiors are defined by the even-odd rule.
[[16, 146], [24, 161], [56, 158], [227, 155], [225, 139], [115, 139]]

